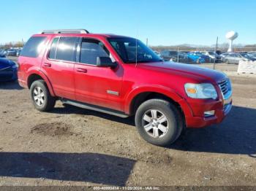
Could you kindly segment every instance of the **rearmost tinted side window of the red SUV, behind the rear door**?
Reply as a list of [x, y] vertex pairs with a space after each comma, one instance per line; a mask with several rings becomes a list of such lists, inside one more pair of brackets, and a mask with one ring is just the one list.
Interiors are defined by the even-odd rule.
[[31, 57], [31, 58], [37, 58], [39, 53], [42, 51], [45, 43], [45, 36], [34, 36], [29, 39], [28, 42], [26, 42], [25, 46], [23, 47], [23, 50], [21, 51], [21, 56]]

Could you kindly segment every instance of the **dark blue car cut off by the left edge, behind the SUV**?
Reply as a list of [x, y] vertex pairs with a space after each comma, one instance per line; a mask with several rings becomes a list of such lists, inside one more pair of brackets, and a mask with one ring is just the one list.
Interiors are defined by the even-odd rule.
[[0, 82], [17, 79], [18, 64], [6, 58], [0, 58]]

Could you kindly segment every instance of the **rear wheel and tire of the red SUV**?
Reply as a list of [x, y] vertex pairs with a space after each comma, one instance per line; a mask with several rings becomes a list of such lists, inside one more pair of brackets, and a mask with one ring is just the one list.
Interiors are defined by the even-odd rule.
[[42, 79], [32, 83], [30, 96], [34, 107], [40, 112], [48, 112], [50, 109], [53, 109], [56, 104], [56, 98], [50, 95], [48, 87]]

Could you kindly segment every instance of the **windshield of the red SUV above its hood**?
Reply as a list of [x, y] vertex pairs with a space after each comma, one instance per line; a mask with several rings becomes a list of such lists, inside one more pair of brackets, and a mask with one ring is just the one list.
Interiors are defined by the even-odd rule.
[[109, 38], [108, 41], [124, 63], [148, 63], [162, 61], [162, 59], [159, 58], [153, 50], [137, 39]]

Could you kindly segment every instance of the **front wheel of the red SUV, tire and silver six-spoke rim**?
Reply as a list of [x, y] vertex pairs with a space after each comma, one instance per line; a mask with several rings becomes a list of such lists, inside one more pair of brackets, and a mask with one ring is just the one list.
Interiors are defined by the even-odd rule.
[[[152, 111], [157, 112], [152, 114]], [[153, 115], [157, 115], [155, 119], [165, 117], [166, 121], [161, 123], [159, 120], [152, 121]], [[144, 140], [161, 147], [173, 144], [184, 130], [181, 113], [178, 112], [176, 106], [162, 99], [151, 99], [141, 104], [135, 114], [135, 125]]]

